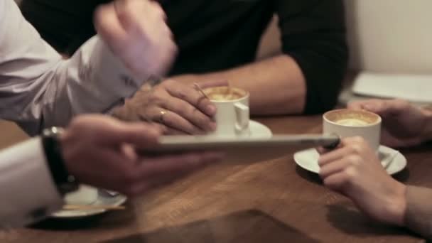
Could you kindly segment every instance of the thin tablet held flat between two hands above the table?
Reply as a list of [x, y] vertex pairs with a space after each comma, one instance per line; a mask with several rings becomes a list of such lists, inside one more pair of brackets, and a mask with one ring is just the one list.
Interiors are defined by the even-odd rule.
[[[296, 149], [338, 146], [337, 135], [275, 135], [263, 138], [235, 138], [220, 136], [162, 136], [158, 146], [144, 153], [151, 155], [187, 153], [190, 151], [222, 151], [229, 163], [268, 161], [294, 153]], [[292, 156], [291, 156], [292, 157]]]

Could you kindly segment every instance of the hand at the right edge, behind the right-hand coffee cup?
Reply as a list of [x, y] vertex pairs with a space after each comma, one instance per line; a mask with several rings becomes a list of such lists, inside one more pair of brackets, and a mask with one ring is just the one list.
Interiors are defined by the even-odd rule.
[[382, 117], [382, 143], [391, 147], [421, 144], [431, 125], [431, 112], [401, 99], [369, 99], [348, 104], [349, 109], [365, 109]]

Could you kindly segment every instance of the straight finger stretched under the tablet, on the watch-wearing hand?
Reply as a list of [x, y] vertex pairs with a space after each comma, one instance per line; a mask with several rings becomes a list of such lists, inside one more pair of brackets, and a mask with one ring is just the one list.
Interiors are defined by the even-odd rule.
[[137, 171], [142, 178], [156, 175], [168, 175], [175, 172], [194, 171], [222, 159], [221, 153], [188, 153], [183, 155], [144, 158]]

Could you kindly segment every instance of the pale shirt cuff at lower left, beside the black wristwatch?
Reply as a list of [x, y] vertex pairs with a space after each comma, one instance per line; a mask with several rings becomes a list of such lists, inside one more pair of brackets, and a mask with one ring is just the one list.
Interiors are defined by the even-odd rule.
[[0, 152], [0, 198], [0, 227], [28, 225], [61, 208], [41, 138]]

